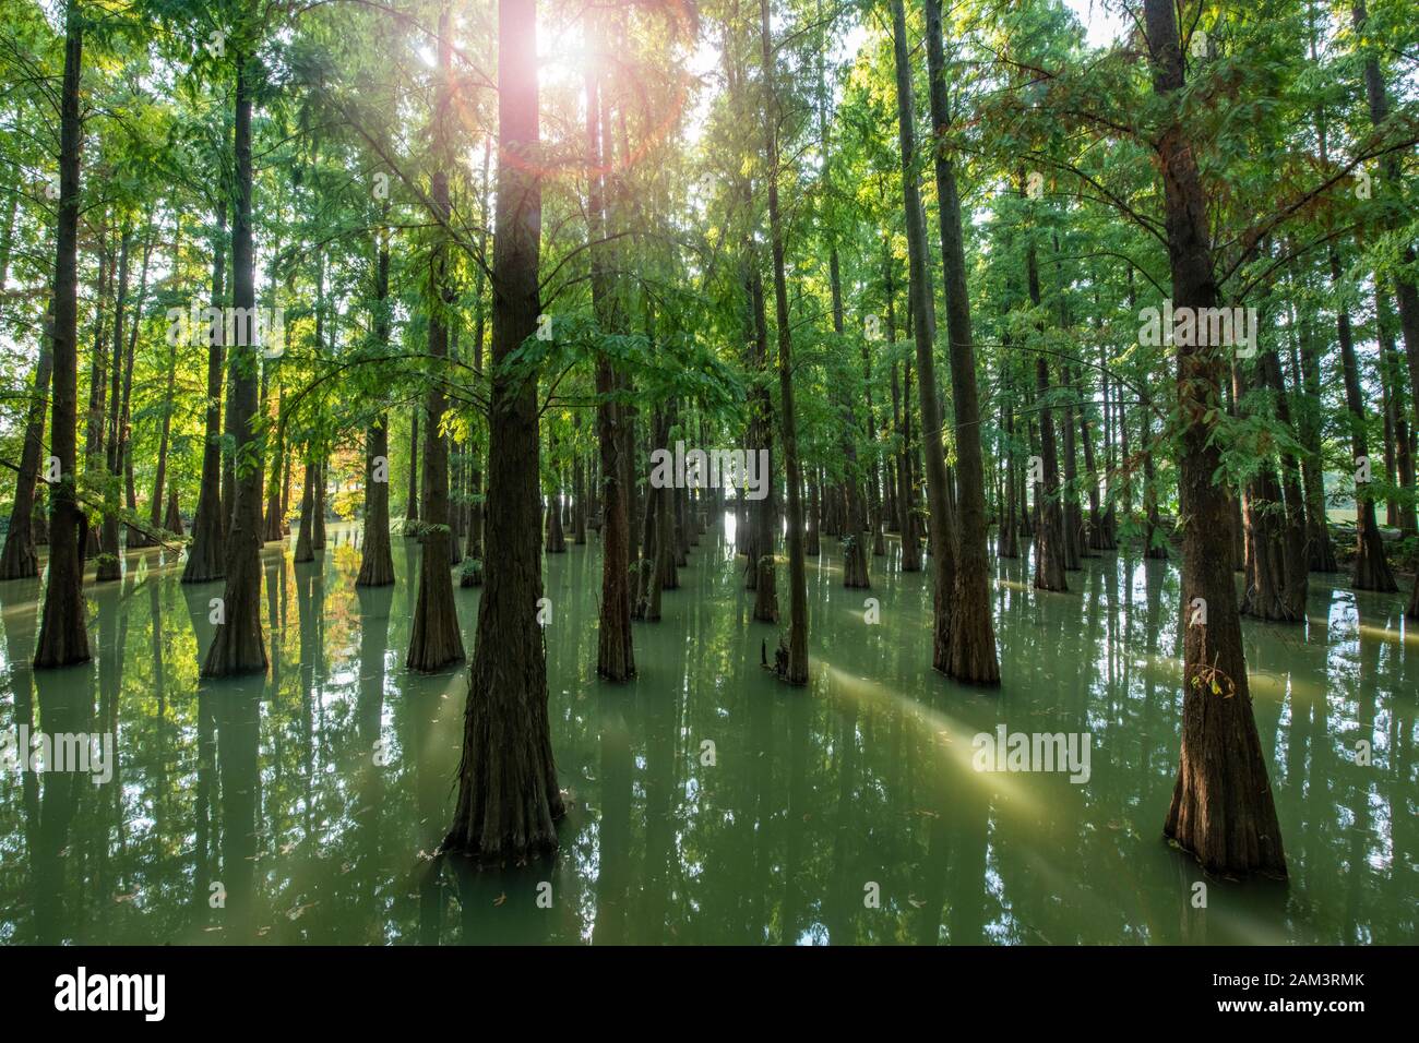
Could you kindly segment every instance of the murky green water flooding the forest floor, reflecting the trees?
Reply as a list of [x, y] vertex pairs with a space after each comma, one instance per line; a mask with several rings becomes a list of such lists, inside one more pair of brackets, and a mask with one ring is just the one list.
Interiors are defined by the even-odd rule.
[[[878, 558], [870, 592], [844, 590], [824, 539], [812, 683], [790, 690], [759, 666], [775, 630], [751, 622], [732, 545], [710, 534], [664, 620], [636, 626], [640, 678], [614, 687], [595, 675], [593, 536], [545, 566], [561, 851], [475, 873], [430, 859], [464, 671], [403, 668], [419, 548], [396, 543], [396, 586], [358, 592], [352, 536], [333, 526], [315, 565], [267, 548], [272, 668], [247, 681], [199, 683], [221, 585], [183, 587], [156, 551], [87, 586], [85, 667], [31, 671], [40, 586], [0, 585], [0, 729], [111, 731], [118, 751], [108, 785], [0, 768], [0, 941], [1415, 938], [1419, 633], [1398, 596], [1313, 578], [1304, 630], [1246, 624], [1291, 880], [1208, 881], [1196, 908], [1205, 878], [1161, 839], [1181, 704], [1171, 565], [1110, 555], [1042, 595], [1027, 561], [999, 563], [1005, 685], [981, 695], [927, 666], [927, 575]], [[457, 592], [470, 650], [477, 600]], [[972, 736], [998, 724], [1088, 732], [1088, 780], [976, 772]]]

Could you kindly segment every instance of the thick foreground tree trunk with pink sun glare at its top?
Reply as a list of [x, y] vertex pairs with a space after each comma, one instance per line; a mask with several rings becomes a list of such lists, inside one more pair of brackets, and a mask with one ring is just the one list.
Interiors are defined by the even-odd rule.
[[[447, 9], [440, 18], [447, 26]], [[447, 33], [438, 34], [440, 50]], [[447, 68], [441, 54], [440, 67]], [[538, 149], [536, 3], [498, 0], [499, 155]], [[538, 397], [504, 360], [536, 329], [542, 187], [532, 163], [498, 163], [485, 586], [464, 714], [458, 806], [444, 847], [524, 861], [556, 847], [563, 815], [546, 714], [538, 624]]]

